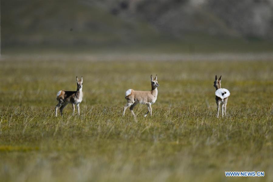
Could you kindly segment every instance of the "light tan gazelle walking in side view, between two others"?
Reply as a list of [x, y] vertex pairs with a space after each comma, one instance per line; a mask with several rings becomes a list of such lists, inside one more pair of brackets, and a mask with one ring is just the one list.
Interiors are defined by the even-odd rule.
[[146, 117], [148, 113], [150, 112], [152, 116], [152, 104], [155, 103], [157, 99], [157, 87], [159, 86], [157, 82], [157, 75], [155, 76], [155, 79], [153, 79], [151, 75], [151, 84], [152, 84], [152, 90], [151, 91], [135, 91], [133, 89], [129, 89], [125, 92], [125, 99], [127, 100], [127, 104], [123, 108], [123, 114], [124, 116], [126, 109], [130, 107], [131, 113], [133, 116], [135, 116], [135, 113], [133, 111], [135, 105], [138, 103], [145, 104], [148, 106], [148, 112], [144, 115]]

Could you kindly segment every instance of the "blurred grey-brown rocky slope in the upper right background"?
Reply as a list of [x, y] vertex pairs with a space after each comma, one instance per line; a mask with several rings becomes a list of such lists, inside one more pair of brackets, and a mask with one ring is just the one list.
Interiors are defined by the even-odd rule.
[[146, 0], [135, 4], [131, 8], [135, 14], [178, 37], [195, 32], [273, 38], [272, 0]]

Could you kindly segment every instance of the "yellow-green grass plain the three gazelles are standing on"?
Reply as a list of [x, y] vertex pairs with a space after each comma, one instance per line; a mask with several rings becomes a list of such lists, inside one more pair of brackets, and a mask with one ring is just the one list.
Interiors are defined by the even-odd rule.
[[[273, 62], [1, 60], [0, 181], [272, 181]], [[125, 91], [149, 90], [122, 118]], [[231, 95], [216, 118], [215, 74]], [[80, 117], [54, 117], [83, 76]], [[225, 177], [264, 171], [264, 177]]]

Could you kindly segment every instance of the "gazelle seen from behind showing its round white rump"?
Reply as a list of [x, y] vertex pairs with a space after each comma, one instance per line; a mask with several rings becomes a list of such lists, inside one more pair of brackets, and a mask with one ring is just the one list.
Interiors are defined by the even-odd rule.
[[227, 99], [230, 96], [230, 92], [227, 89], [221, 88], [221, 77], [222, 75], [220, 76], [219, 79], [217, 79], [217, 75], [215, 75], [215, 81], [213, 85], [216, 88], [215, 100], [217, 104], [217, 114], [216, 114], [217, 118], [219, 118], [220, 104], [222, 104], [222, 117], [224, 117], [224, 112], [225, 112], [225, 116], [227, 116]]

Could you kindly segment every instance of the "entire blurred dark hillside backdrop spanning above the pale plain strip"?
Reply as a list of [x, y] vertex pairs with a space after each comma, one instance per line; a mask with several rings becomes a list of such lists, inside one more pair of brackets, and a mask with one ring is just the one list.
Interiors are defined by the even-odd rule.
[[3, 0], [1, 49], [268, 52], [272, 12], [272, 0]]

